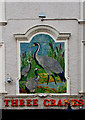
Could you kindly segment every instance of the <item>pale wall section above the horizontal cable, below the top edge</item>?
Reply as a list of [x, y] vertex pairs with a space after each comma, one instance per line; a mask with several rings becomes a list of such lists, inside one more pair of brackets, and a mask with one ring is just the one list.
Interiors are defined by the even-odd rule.
[[6, 19], [38, 19], [41, 12], [47, 18], [79, 18], [79, 6], [78, 2], [7, 2]]

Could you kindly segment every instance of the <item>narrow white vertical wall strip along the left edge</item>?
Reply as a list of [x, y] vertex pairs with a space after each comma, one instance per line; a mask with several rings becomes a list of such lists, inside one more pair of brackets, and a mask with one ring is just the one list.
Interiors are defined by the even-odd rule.
[[5, 1], [0, 1], [0, 94], [5, 91], [5, 48], [2, 37], [2, 29], [5, 21]]

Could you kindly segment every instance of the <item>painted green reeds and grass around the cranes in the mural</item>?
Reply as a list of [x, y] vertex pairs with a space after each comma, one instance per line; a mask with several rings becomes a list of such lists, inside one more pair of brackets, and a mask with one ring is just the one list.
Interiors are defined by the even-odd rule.
[[[60, 46], [56, 46], [56, 49], [54, 49], [52, 40], [49, 40], [49, 47], [50, 49], [47, 50], [47, 54], [49, 57], [52, 57], [54, 59], [56, 59], [61, 67], [63, 68], [63, 70], [65, 71], [65, 62], [64, 62], [64, 50], [63, 48]], [[31, 61], [31, 70], [27, 73], [27, 77], [23, 77], [21, 81], [19, 81], [19, 90], [21, 90], [21, 88], [23, 88], [25, 90], [25, 83], [26, 81], [29, 81], [29, 79], [35, 78], [35, 68], [39, 68], [40, 70], [38, 70], [38, 74], [40, 76], [40, 80], [39, 80], [39, 84], [44, 84], [47, 83], [47, 73], [44, 69], [42, 69], [34, 60], [33, 54], [31, 54], [30, 52], [28, 52], [28, 54], [26, 54], [26, 52], [21, 56], [21, 71], [24, 67], [29, 66], [29, 63], [27, 63], [27, 59], [30, 59]], [[54, 74], [53, 74], [54, 75]], [[55, 76], [55, 75], [54, 75]], [[52, 78], [51, 75], [49, 76], [49, 78]], [[55, 77], [56, 82], [61, 83], [61, 80], [59, 78], [59, 76]], [[51, 82], [54, 82], [54, 80]], [[38, 86], [38, 88], [35, 90], [35, 93], [64, 93], [66, 92], [66, 82], [64, 86], [59, 86], [58, 90], [56, 89], [52, 89], [49, 87], [45, 87], [45, 86]]]

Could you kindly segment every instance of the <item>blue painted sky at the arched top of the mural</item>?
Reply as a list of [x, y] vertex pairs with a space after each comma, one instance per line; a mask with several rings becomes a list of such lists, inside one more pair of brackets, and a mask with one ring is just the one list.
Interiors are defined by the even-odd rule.
[[[36, 51], [37, 46], [29, 48], [31, 45], [33, 45], [33, 43], [35, 42], [39, 42], [40, 43], [40, 51], [39, 51], [39, 55], [47, 55], [47, 50], [50, 49], [49, 47], [49, 42], [50, 40], [53, 43], [53, 47], [54, 49], [56, 49], [56, 46], [60, 46], [60, 42], [56, 42], [53, 40], [53, 38], [47, 34], [38, 34], [36, 36], [34, 36], [31, 40], [30, 43], [20, 43], [20, 54], [22, 55], [22, 53], [24, 53], [26, 51], [26, 53], [28, 54], [28, 52], [33, 53]], [[61, 47], [64, 49], [64, 42], [61, 42]]]

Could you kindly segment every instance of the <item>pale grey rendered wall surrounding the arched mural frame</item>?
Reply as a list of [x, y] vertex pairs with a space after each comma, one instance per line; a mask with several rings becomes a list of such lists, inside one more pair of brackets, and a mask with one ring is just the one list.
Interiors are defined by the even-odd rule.
[[[70, 77], [70, 95], [78, 95], [81, 90], [81, 39], [80, 39], [80, 3], [79, 2], [7, 2], [7, 25], [3, 27], [5, 43], [5, 82], [8, 95], [16, 94], [18, 77], [17, 41], [14, 34], [24, 34], [36, 25], [49, 25], [59, 33], [71, 33], [69, 39], [68, 73]], [[39, 13], [45, 13], [50, 20], [41, 21]], [[7, 74], [13, 81], [7, 82]]]

